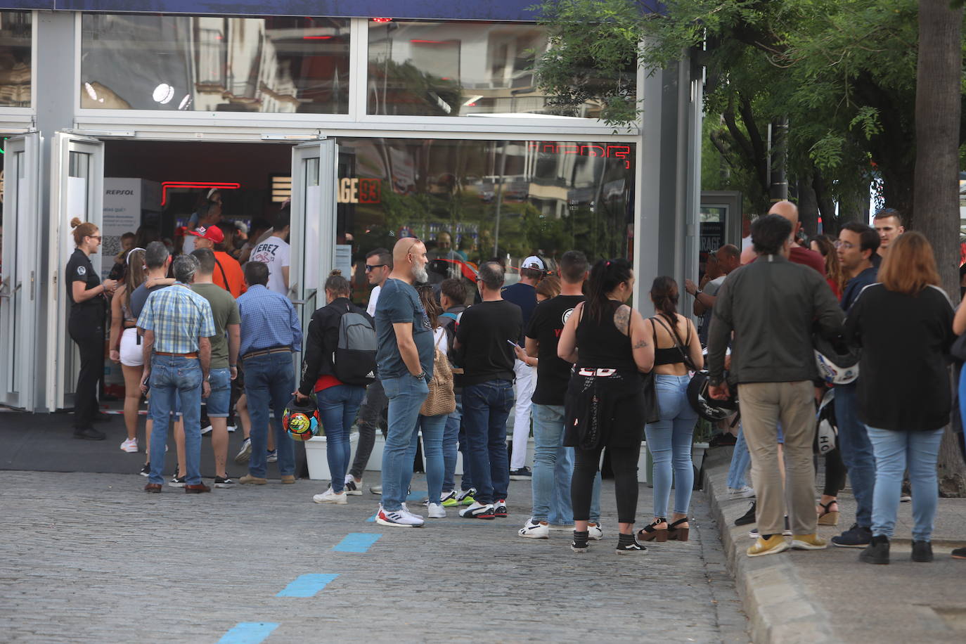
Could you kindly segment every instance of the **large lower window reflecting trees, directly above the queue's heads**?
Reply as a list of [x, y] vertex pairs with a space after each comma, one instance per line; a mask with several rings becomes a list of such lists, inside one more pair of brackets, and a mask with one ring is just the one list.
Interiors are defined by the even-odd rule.
[[[433, 282], [498, 258], [507, 283], [539, 255], [628, 257], [630, 143], [339, 139], [337, 243], [352, 244], [356, 293], [365, 254], [401, 237], [426, 242]], [[469, 273], [467, 271], [470, 271]], [[475, 289], [475, 287], [473, 287]]]

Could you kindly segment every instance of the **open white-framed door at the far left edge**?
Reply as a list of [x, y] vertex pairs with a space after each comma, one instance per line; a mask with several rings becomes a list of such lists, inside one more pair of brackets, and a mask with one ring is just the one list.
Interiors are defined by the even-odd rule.
[[38, 211], [41, 135], [8, 139], [3, 151], [0, 266], [0, 405], [33, 411], [36, 389]]

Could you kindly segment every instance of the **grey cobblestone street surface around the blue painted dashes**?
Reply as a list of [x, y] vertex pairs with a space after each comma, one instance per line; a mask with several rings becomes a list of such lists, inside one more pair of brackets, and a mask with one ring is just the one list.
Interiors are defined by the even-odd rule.
[[[566, 532], [516, 535], [529, 510], [526, 482], [511, 484], [509, 518], [449, 509], [413, 529], [366, 520], [376, 480], [347, 506], [312, 503], [324, 485], [307, 480], [202, 495], [145, 494], [145, 481], [0, 472], [0, 641], [263, 641], [232, 630], [241, 623], [277, 625], [268, 644], [749, 641], [700, 493], [691, 542], [616, 556], [608, 481], [605, 540], [585, 555], [571, 553]], [[419, 475], [413, 490], [425, 490]], [[650, 490], [640, 491], [639, 508], [649, 510]], [[364, 552], [333, 549], [366, 549], [366, 538], [343, 542], [350, 533], [380, 536]], [[336, 576], [314, 597], [277, 597], [303, 574]]]

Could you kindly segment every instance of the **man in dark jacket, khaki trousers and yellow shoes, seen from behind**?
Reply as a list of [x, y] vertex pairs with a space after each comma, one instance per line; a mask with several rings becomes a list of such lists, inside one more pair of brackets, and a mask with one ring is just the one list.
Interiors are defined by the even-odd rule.
[[[779, 215], [752, 224], [758, 260], [725, 279], [715, 301], [708, 335], [710, 394], [724, 399], [738, 387], [745, 438], [752, 454], [760, 536], [749, 556], [789, 547], [781, 536], [785, 494], [778, 457], [778, 423], [784, 431], [785, 484], [791, 506], [791, 547], [820, 549], [815, 535], [815, 431], [813, 388], [818, 378], [811, 332], [841, 332], [844, 316], [835, 295], [816, 271], [788, 261], [792, 226]], [[734, 333], [732, 340], [731, 334]], [[731, 341], [731, 371], [725, 382], [725, 350]]]

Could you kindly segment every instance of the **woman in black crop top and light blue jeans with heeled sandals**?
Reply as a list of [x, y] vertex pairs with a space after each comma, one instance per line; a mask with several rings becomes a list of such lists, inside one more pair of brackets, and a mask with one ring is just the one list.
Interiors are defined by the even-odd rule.
[[[657, 315], [654, 330], [654, 388], [661, 420], [644, 428], [647, 449], [654, 455], [654, 521], [638, 532], [641, 541], [688, 541], [688, 508], [695, 486], [691, 461], [697, 412], [688, 401], [689, 371], [704, 366], [701, 342], [694, 324], [677, 312], [677, 283], [667, 275], [651, 285]], [[674, 516], [668, 525], [671, 472], [674, 480]]]

